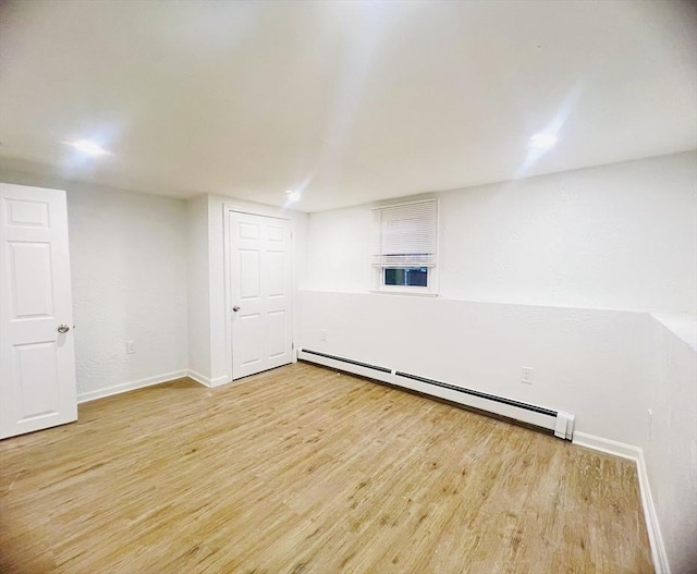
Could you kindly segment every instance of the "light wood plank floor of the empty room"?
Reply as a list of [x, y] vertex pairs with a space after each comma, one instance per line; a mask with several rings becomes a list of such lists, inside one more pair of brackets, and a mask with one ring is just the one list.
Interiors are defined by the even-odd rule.
[[296, 364], [0, 442], [0, 572], [652, 572], [632, 463]]

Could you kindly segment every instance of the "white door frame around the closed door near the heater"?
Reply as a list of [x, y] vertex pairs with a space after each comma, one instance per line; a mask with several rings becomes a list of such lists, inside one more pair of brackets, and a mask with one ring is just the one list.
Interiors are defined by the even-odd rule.
[[293, 259], [295, 255], [295, 233], [292, 217], [283, 217], [281, 215], [271, 216], [268, 212], [264, 212], [262, 209], [242, 209], [234, 204], [224, 203], [222, 206], [222, 229], [223, 229], [223, 270], [225, 277], [225, 373], [228, 380], [232, 381], [232, 346], [234, 341], [232, 340], [232, 270], [230, 269], [230, 256], [231, 256], [231, 239], [232, 233], [230, 229], [230, 213], [245, 213], [248, 216], [266, 217], [269, 219], [280, 219], [282, 221], [289, 221], [291, 224], [291, 252], [289, 258], [289, 265], [291, 266], [291, 296], [289, 301], [289, 310], [291, 312], [291, 344], [292, 344], [292, 361], [297, 361], [297, 351], [295, 350], [295, 269], [293, 266]]

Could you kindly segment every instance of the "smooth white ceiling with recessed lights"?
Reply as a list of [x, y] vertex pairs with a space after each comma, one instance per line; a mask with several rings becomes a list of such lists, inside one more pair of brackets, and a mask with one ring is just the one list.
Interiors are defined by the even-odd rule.
[[4, 169], [176, 197], [316, 211], [697, 147], [692, 2], [5, 1], [0, 58]]

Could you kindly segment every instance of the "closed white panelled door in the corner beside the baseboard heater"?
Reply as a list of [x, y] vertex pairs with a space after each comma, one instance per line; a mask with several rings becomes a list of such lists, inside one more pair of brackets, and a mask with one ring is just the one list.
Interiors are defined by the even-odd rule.
[[230, 211], [232, 378], [293, 361], [291, 224]]

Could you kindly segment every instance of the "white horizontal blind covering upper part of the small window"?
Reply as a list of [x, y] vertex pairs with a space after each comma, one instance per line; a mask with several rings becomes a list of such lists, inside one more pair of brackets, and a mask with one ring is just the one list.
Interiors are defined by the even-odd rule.
[[438, 200], [372, 209], [376, 267], [435, 267]]

